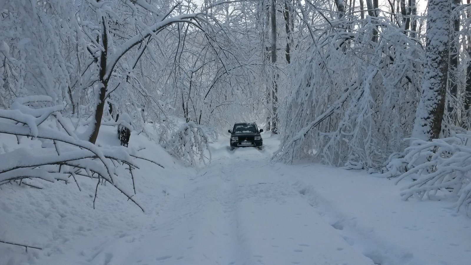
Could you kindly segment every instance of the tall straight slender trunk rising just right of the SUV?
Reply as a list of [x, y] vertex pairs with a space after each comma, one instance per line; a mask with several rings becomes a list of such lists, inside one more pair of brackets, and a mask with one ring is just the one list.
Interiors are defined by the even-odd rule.
[[276, 124], [277, 119], [277, 105], [278, 105], [278, 74], [276, 73], [276, 0], [271, 0], [270, 8], [271, 17], [271, 63], [273, 67], [273, 91], [271, 93], [271, 106], [272, 106], [272, 118], [271, 118], [271, 131], [277, 134], [278, 128]]

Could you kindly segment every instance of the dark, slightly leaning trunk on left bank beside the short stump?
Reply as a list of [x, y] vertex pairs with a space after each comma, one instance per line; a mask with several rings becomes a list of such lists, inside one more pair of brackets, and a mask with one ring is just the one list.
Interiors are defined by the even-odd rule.
[[104, 48], [101, 51], [100, 55], [100, 72], [99, 72], [99, 82], [101, 84], [100, 92], [98, 94], [98, 102], [95, 108], [95, 123], [93, 126], [93, 131], [90, 134], [89, 142], [95, 143], [97, 141], [98, 132], [100, 131], [101, 119], [103, 117], [103, 110], [105, 109], [105, 96], [106, 91], [108, 90], [108, 81], [106, 77], [106, 59], [108, 57], [108, 35], [106, 30], [105, 17], [102, 17], [103, 23], [103, 33], [101, 34], [102, 46]]

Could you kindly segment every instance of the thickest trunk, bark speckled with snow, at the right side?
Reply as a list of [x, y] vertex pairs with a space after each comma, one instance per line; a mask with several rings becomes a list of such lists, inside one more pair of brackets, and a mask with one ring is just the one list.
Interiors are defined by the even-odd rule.
[[427, 13], [426, 64], [422, 95], [415, 113], [412, 137], [430, 141], [439, 138], [447, 91], [450, 0], [429, 0]]

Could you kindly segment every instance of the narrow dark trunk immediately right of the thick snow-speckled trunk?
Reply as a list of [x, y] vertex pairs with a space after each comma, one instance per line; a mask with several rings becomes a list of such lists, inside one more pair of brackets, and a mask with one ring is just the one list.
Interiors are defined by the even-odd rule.
[[[451, 10], [455, 10], [461, 4], [461, 0], [454, 0], [452, 3]], [[452, 35], [450, 38], [450, 69], [448, 74], [448, 83], [450, 84], [450, 94], [451, 97], [448, 100], [448, 114], [450, 115], [452, 121], [456, 124], [456, 113], [454, 113], [456, 105], [456, 95], [458, 94], [458, 83], [456, 82], [458, 72], [458, 50], [459, 50], [459, 31], [460, 31], [460, 15], [456, 14], [453, 18], [453, 29]]]

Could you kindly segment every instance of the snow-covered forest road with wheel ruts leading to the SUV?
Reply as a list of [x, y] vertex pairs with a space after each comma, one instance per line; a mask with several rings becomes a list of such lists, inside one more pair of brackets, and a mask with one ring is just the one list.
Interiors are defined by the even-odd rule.
[[317, 213], [291, 176], [268, 163], [272, 147], [229, 151], [225, 143], [213, 145], [211, 165], [145, 236], [126, 250], [114, 248], [120, 252], [105, 264], [373, 264]]

